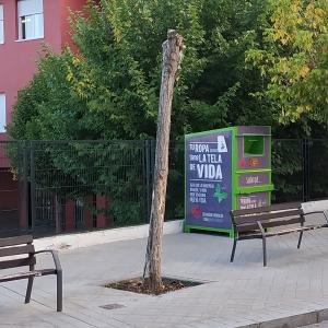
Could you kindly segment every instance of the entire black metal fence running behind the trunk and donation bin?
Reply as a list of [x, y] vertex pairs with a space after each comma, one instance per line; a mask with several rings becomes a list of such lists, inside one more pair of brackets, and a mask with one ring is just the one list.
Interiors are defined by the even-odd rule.
[[[0, 235], [148, 222], [154, 153], [154, 140], [0, 142]], [[184, 153], [172, 143], [166, 220], [184, 218]], [[327, 198], [326, 163], [328, 140], [273, 140], [272, 201]]]

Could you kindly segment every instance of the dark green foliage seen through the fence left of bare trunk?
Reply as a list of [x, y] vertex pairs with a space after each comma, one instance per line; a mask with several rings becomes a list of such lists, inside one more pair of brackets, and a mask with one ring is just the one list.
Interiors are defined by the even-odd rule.
[[[104, 210], [89, 200], [105, 196], [114, 226], [147, 220], [143, 141], [32, 141], [25, 150], [34, 159], [37, 192], [56, 195], [61, 203], [82, 200], [96, 215]], [[32, 180], [32, 174], [30, 175]]]

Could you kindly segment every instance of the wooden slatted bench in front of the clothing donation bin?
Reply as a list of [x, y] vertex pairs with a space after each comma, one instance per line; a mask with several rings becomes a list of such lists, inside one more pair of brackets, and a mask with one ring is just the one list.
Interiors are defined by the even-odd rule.
[[[314, 213], [323, 214], [327, 222], [323, 224], [304, 225], [306, 215]], [[231, 211], [231, 219], [234, 229], [234, 244], [231, 254], [231, 262], [234, 260], [237, 241], [259, 238], [262, 239], [265, 267], [267, 266], [267, 237], [298, 232], [300, 237], [297, 248], [300, 248], [304, 231], [328, 226], [327, 212], [312, 211], [304, 213], [301, 202], [280, 203], [247, 210], [234, 210]], [[297, 224], [297, 226], [293, 224]], [[288, 227], [288, 225], [292, 226]]]

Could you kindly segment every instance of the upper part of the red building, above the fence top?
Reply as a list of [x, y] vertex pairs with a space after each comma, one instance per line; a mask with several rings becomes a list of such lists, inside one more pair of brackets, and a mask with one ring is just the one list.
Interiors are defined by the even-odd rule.
[[36, 71], [43, 45], [55, 52], [71, 44], [70, 11], [82, 10], [86, 0], [0, 0], [0, 140], [17, 91]]

